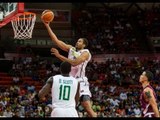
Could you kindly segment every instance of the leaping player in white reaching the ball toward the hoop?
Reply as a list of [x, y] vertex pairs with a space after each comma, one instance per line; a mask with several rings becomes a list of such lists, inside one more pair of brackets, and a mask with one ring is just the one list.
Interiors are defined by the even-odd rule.
[[[43, 19], [42, 19], [43, 21]], [[54, 54], [57, 58], [62, 61], [67, 61], [72, 65], [70, 75], [80, 81], [80, 102], [84, 107], [86, 112], [90, 117], [97, 117], [97, 114], [93, 111], [91, 106], [91, 92], [89, 90], [88, 78], [85, 76], [85, 68], [87, 63], [91, 59], [91, 54], [88, 49], [85, 49], [88, 45], [86, 38], [79, 38], [75, 47], [68, 45], [63, 41], [59, 40], [57, 36], [53, 33], [50, 28], [49, 23], [44, 22], [44, 25], [47, 28], [47, 31], [52, 39], [52, 41], [62, 50], [68, 52], [68, 58], [59, 54], [58, 50], [55, 48], [51, 49], [51, 54]]]

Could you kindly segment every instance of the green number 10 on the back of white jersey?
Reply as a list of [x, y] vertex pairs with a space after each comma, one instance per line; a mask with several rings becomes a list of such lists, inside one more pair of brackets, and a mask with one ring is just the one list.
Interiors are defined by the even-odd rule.
[[71, 87], [67, 85], [60, 85], [59, 89], [59, 100], [69, 100]]

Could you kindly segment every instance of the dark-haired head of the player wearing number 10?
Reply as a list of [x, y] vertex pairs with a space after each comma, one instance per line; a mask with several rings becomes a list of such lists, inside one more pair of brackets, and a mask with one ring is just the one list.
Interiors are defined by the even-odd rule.
[[70, 71], [71, 71], [71, 64], [67, 61], [62, 62], [60, 65], [60, 72], [62, 74], [69, 74]]

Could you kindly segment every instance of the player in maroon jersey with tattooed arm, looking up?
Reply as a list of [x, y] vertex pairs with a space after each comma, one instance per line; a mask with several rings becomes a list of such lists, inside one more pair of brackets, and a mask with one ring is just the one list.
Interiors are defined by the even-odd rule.
[[140, 95], [140, 104], [142, 108], [143, 117], [160, 117], [157, 98], [154, 89], [150, 85], [150, 81], [153, 79], [153, 73], [150, 71], [144, 71], [140, 75], [139, 82], [142, 84], [143, 90]]

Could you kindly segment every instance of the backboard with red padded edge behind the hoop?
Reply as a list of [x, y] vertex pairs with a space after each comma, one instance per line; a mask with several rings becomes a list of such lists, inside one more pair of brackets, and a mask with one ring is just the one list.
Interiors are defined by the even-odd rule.
[[0, 28], [24, 12], [24, 3], [0, 3]]

